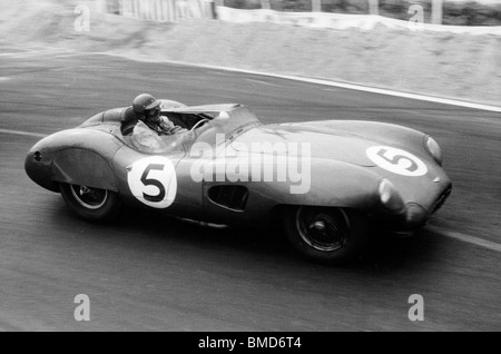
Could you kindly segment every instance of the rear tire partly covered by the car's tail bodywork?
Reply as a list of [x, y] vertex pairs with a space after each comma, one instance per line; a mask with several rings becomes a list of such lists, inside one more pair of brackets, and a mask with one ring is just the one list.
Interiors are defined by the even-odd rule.
[[61, 184], [61, 196], [78, 217], [90, 223], [107, 223], [118, 216], [121, 203], [111, 190]]

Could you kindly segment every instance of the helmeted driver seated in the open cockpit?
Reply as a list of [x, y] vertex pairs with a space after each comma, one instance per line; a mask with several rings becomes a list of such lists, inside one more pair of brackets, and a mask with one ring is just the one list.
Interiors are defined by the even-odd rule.
[[143, 151], [155, 153], [165, 146], [160, 136], [187, 131], [175, 126], [167, 117], [161, 116], [160, 101], [148, 94], [139, 95], [134, 99], [132, 109], [139, 120], [134, 127], [132, 142]]

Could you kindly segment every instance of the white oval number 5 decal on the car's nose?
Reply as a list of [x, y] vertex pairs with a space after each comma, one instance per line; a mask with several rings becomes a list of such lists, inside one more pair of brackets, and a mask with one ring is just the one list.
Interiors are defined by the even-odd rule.
[[397, 175], [418, 177], [428, 173], [426, 165], [421, 159], [402, 149], [373, 146], [366, 153], [374, 164]]

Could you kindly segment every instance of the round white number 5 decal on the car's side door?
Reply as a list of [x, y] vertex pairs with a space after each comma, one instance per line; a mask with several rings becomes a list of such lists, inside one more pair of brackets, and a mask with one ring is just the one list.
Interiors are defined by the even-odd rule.
[[127, 167], [127, 183], [139, 201], [154, 208], [167, 208], [176, 198], [176, 169], [165, 157], [144, 158]]

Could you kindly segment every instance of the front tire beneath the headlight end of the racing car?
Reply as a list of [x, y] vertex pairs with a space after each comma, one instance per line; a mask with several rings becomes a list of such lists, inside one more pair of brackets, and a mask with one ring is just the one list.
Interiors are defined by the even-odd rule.
[[367, 223], [353, 209], [288, 207], [283, 225], [292, 245], [321, 263], [345, 263], [363, 255], [367, 247]]

